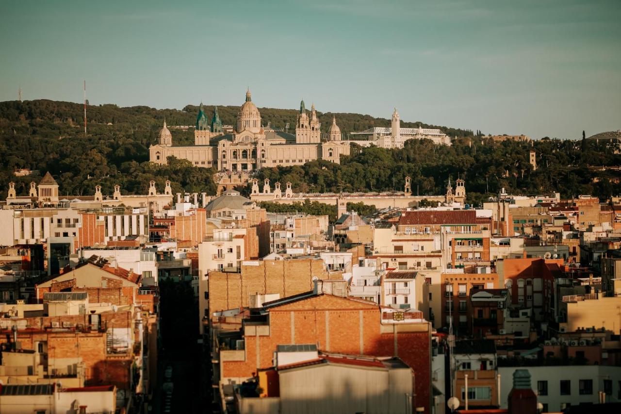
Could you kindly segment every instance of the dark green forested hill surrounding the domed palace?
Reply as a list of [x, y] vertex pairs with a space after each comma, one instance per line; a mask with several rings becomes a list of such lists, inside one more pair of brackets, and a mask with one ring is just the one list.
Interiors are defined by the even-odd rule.
[[[207, 107], [210, 114], [212, 107]], [[219, 107], [224, 124], [234, 124], [238, 107]], [[295, 125], [295, 110], [261, 108], [263, 122], [274, 127]], [[76, 103], [9, 101], [0, 103], [0, 198], [7, 184], [16, 182], [18, 194], [27, 194], [32, 180], [50, 171], [62, 195], [92, 195], [96, 184], [111, 195], [119, 184], [125, 193], [144, 193], [149, 180], [163, 189], [170, 179], [173, 192], [215, 192], [213, 171], [173, 160], [160, 167], [148, 162], [148, 147], [156, 142], [163, 119], [169, 126], [193, 125], [197, 107], [153, 109], [146, 106], [117, 108], [88, 106], [88, 136], [83, 134], [83, 106]], [[388, 119], [356, 114], [336, 114], [343, 132], [372, 126], [389, 126]], [[320, 114], [324, 126], [332, 114]], [[402, 122], [402, 126], [415, 126]], [[427, 124], [422, 124], [428, 127]], [[325, 128], [324, 128], [325, 129]], [[542, 139], [530, 142], [493, 142], [471, 131], [440, 127], [453, 139], [450, 147], [429, 140], [409, 140], [404, 149], [361, 149], [354, 145], [341, 165], [317, 161], [295, 167], [263, 168], [258, 178], [290, 181], [295, 191], [402, 190], [406, 175], [420, 195], [443, 194], [446, 180], [466, 180], [470, 202], [478, 203], [502, 187], [510, 193], [537, 194], [559, 191], [563, 197], [592, 194], [602, 200], [621, 194], [619, 144], [612, 140]], [[171, 129], [173, 142], [191, 144], [193, 131]], [[528, 151], [537, 152], [537, 170], [528, 162]], [[596, 167], [597, 166], [597, 167]], [[38, 173], [15, 177], [16, 168]]]

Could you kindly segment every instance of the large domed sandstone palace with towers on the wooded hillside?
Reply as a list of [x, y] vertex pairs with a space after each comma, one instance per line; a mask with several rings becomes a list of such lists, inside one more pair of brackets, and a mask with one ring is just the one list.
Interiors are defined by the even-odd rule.
[[321, 136], [315, 106], [312, 105], [309, 114], [304, 101], [297, 114], [295, 135], [262, 126], [261, 113], [248, 90], [232, 134], [223, 132], [217, 107], [210, 124], [201, 103], [194, 127], [194, 145], [173, 145], [173, 137], [164, 122], [158, 144], [149, 148], [149, 159], [165, 164], [172, 155], [189, 160], [197, 167], [213, 167], [220, 172], [242, 172], [277, 165], [301, 165], [318, 159], [339, 163], [341, 155], [350, 154], [350, 143], [341, 140], [335, 118], [325, 134], [325, 142], [322, 142]]

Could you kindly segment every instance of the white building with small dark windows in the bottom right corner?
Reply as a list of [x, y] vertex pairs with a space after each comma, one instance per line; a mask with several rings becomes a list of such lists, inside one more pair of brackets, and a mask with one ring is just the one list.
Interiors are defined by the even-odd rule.
[[613, 366], [538, 366], [501, 367], [501, 408], [507, 408], [516, 369], [530, 372], [530, 385], [537, 393], [543, 412], [559, 412], [568, 405], [596, 404], [599, 392], [606, 402], [621, 402], [621, 367]]

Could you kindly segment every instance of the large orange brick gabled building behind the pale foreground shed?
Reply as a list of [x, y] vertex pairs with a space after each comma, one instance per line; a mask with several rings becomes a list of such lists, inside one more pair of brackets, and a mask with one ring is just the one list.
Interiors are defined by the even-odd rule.
[[321, 351], [398, 356], [414, 370], [415, 407], [430, 409], [431, 327], [417, 319], [392, 320], [372, 302], [307, 292], [264, 304], [263, 320], [243, 321], [245, 349], [220, 351], [221, 383], [242, 381], [274, 365], [280, 344], [317, 344]]

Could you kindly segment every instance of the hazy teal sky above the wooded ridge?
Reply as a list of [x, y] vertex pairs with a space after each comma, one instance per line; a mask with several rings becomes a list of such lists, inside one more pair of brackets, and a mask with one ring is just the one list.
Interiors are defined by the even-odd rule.
[[578, 138], [621, 128], [621, 0], [0, 0], [0, 101], [258, 106]]

